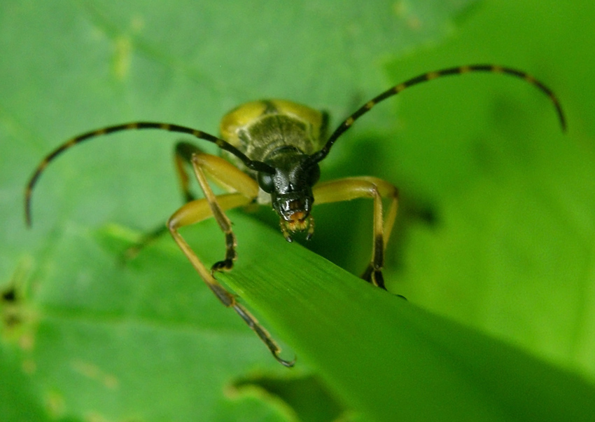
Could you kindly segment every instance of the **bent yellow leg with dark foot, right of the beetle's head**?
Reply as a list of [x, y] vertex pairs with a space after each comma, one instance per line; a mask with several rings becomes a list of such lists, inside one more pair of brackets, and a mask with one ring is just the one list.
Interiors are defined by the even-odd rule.
[[[384, 266], [384, 250], [391, 236], [393, 224], [397, 216], [398, 190], [392, 184], [376, 177], [348, 177], [332, 180], [314, 186], [314, 203], [332, 203], [355, 198], [372, 198], [374, 200], [374, 229], [372, 243], [372, 259], [361, 275], [364, 280], [384, 287], [382, 267]], [[383, 224], [382, 199], [391, 200]]]

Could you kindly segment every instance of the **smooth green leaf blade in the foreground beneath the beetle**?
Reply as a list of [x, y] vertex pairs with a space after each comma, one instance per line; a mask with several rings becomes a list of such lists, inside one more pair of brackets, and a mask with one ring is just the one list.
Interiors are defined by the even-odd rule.
[[[251, 230], [246, 217], [235, 221], [239, 235]], [[272, 231], [251, 235], [241, 268], [221, 278], [370, 420], [592, 417], [595, 387], [577, 376], [367, 285]]]

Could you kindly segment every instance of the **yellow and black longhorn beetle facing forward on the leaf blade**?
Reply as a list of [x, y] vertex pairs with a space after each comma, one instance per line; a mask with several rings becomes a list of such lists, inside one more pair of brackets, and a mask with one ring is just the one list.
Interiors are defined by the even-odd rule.
[[[169, 217], [165, 227], [150, 233], [138, 245], [137, 250], [151, 238], [169, 229], [182, 252], [216, 297], [225, 306], [233, 308], [239, 314], [260, 340], [267, 345], [276, 360], [286, 367], [291, 367], [295, 360], [283, 360], [279, 356], [281, 349], [269, 336], [267, 330], [214, 277], [217, 271], [230, 270], [237, 258], [236, 238], [230, 219], [225, 215], [225, 210], [251, 203], [272, 205], [273, 210], [280, 218], [281, 233], [290, 242], [292, 233], [296, 231], [306, 231], [307, 238], [310, 238], [314, 233], [314, 219], [310, 213], [314, 203], [372, 198], [374, 207], [372, 258], [361, 277], [384, 289], [381, 270], [384, 265], [384, 250], [397, 214], [397, 189], [392, 184], [376, 177], [347, 177], [317, 184], [320, 177], [318, 163], [328, 155], [337, 139], [351, 128], [358, 118], [379, 102], [419, 83], [432, 81], [442, 76], [470, 72], [507, 74], [535, 86], [552, 101], [562, 130], [566, 130], [563, 111], [552, 90], [525, 72], [494, 64], [451, 67], [428, 72], [399, 83], [363, 104], [351, 116], [342, 121], [328, 137], [326, 135], [327, 114], [284, 100], [248, 102], [230, 111], [221, 120], [221, 137], [172, 123], [148, 121], [124, 123], [73, 137], [43, 158], [31, 175], [25, 189], [27, 225], [31, 226], [31, 193], [43, 170], [50, 161], [64, 151], [87, 139], [124, 130], [159, 129], [186, 133], [198, 139], [213, 142], [222, 150], [223, 158], [204, 154], [195, 145], [188, 142], [176, 144], [176, 172], [186, 196], [186, 203], [174, 212], [172, 217]], [[186, 164], [192, 166], [195, 177], [204, 192], [204, 198], [195, 199], [190, 193]], [[216, 184], [223, 186], [228, 193], [216, 196], [207, 182], [207, 175]], [[384, 215], [382, 205], [383, 198], [390, 200], [386, 215]], [[211, 266], [210, 271], [178, 232], [183, 226], [195, 224], [209, 217], [215, 217], [221, 231], [225, 234], [225, 258]]]

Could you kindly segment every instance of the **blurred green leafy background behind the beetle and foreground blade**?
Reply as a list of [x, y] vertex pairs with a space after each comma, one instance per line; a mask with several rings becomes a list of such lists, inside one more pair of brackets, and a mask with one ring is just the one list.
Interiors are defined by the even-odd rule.
[[[27, 230], [22, 191], [53, 147], [136, 119], [217, 132], [225, 111], [263, 97], [326, 109], [337, 124], [388, 86], [475, 62], [544, 81], [568, 132], [521, 81], [442, 79], [358, 122], [323, 179], [374, 175], [399, 186], [388, 290], [595, 379], [594, 19], [589, 1], [3, 1], [0, 370], [10, 380], [3, 397], [16, 403], [0, 407], [3, 420], [184, 421], [197, 409], [204, 421], [295, 416], [262, 390], [230, 393], [246, 377], [288, 372], [197, 283], [169, 238], [158, 244], [167, 253], [123, 268], [121, 245], [97, 234], [115, 223], [130, 238], [179, 206], [177, 138], [130, 133], [69, 151], [41, 178]], [[359, 273], [371, 204], [314, 215], [307, 246]], [[269, 210], [255, 218], [276, 227]], [[201, 256], [219, 259], [207, 240], [223, 251], [221, 235], [204, 226]]]

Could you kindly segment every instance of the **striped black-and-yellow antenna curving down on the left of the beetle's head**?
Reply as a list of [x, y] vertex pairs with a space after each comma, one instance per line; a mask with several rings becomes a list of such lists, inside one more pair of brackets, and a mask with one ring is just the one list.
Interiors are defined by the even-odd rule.
[[260, 161], [253, 161], [248, 158], [245, 154], [235, 148], [232, 144], [225, 142], [223, 139], [218, 138], [213, 135], [209, 135], [206, 132], [202, 132], [200, 130], [196, 130], [193, 128], [188, 128], [186, 126], [181, 125], [174, 125], [170, 123], [156, 123], [156, 122], [132, 122], [132, 123], [124, 123], [122, 125], [115, 125], [115, 126], [108, 126], [107, 128], [92, 130], [90, 132], [83, 133], [83, 135], [78, 135], [69, 139], [68, 141], [64, 142], [64, 144], [57, 147], [54, 151], [50, 152], [41, 163], [37, 165], [37, 168], [31, 175], [31, 179], [27, 183], [27, 187], [25, 188], [25, 221], [27, 222], [27, 226], [31, 226], [31, 194], [33, 193], [33, 189], [35, 184], [37, 183], [39, 176], [48, 164], [51, 161], [54, 161], [57, 156], [62, 154], [67, 149], [74, 147], [75, 145], [80, 144], [83, 141], [88, 139], [92, 139], [94, 137], [99, 137], [102, 135], [108, 135], [109, 133], [114, 132], [122, 132], [124, 130], [140, 130], [140, 129], [158, 129], [158, 130], [168, 130], [169, 132], [179, 132], [179, 133], [187, 133], [188, 135], [193, 135], [199, 139], [204, 139], [205, 141], [213, 142], [217, 145], [217, 147], [224, 149], [225, 151], [230, 152], [231, 154], [237, 156], [247, 168], [251, 170], [255, 170], [257, 172], [266, 172], [270, 174], [274, 174], [275, 170], [270, 165], [262, 163]]

